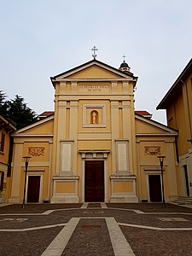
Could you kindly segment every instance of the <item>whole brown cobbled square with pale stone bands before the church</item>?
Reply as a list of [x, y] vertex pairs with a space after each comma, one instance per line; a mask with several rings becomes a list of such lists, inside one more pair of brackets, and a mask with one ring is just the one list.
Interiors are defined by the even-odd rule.
[[0, 255], [192, 255], [192, 209], [166, 204], [0, 205]]

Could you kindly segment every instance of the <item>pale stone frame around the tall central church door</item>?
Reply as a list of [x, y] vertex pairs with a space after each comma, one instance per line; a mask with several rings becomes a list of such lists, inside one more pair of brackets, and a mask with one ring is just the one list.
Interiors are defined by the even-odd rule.
[[[91, 161], [94, 161], [94, 159], [89, 159]], [[86, 161], [89, 161], [88, 159], [86, 159]], [[98, 159], [95, 159], [96, 161], [100, 161]], [[107, 160], [101, 160], [104, 162], [104, 202], [108, 202], [108, 165], [107, 165]], [[81, 177], [82, 177], [82, 183], [81, 183], [81, 191], [82, 191], [82, 202], [84, 202], [84, 178], [85, 178], [85, 160], [82, 160], [81, 163]]]

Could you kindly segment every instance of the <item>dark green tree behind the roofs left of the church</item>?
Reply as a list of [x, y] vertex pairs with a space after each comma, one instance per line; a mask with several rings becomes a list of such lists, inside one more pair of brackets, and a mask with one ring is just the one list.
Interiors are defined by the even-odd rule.
[[3, 91], [0, 91], [0, 114], [16, 123], [17, 129], [31, 125], [37, 121], [36, 113], [27, 107], [24, 98], [16, 95], [14, 100], [6, 101]]

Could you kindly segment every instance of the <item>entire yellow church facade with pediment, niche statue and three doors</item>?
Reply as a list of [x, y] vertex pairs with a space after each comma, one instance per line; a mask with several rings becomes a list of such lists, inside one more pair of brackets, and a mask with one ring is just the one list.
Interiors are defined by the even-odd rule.
[[13, 134], [9, 202], [166, 201], [178, 195], [177, 131], [135, 112], [137, 77], [93, 59], [51, 77], [55, 112]]

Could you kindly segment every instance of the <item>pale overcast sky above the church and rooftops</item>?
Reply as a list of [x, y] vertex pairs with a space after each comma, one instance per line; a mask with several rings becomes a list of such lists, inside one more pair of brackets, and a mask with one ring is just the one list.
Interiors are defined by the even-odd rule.
[[54, 110], [55, 76], [92, 59], [138, 76], [136, 110], [157, 105], [191, 58], [191, 0], [0, 0], [0, 90]]

